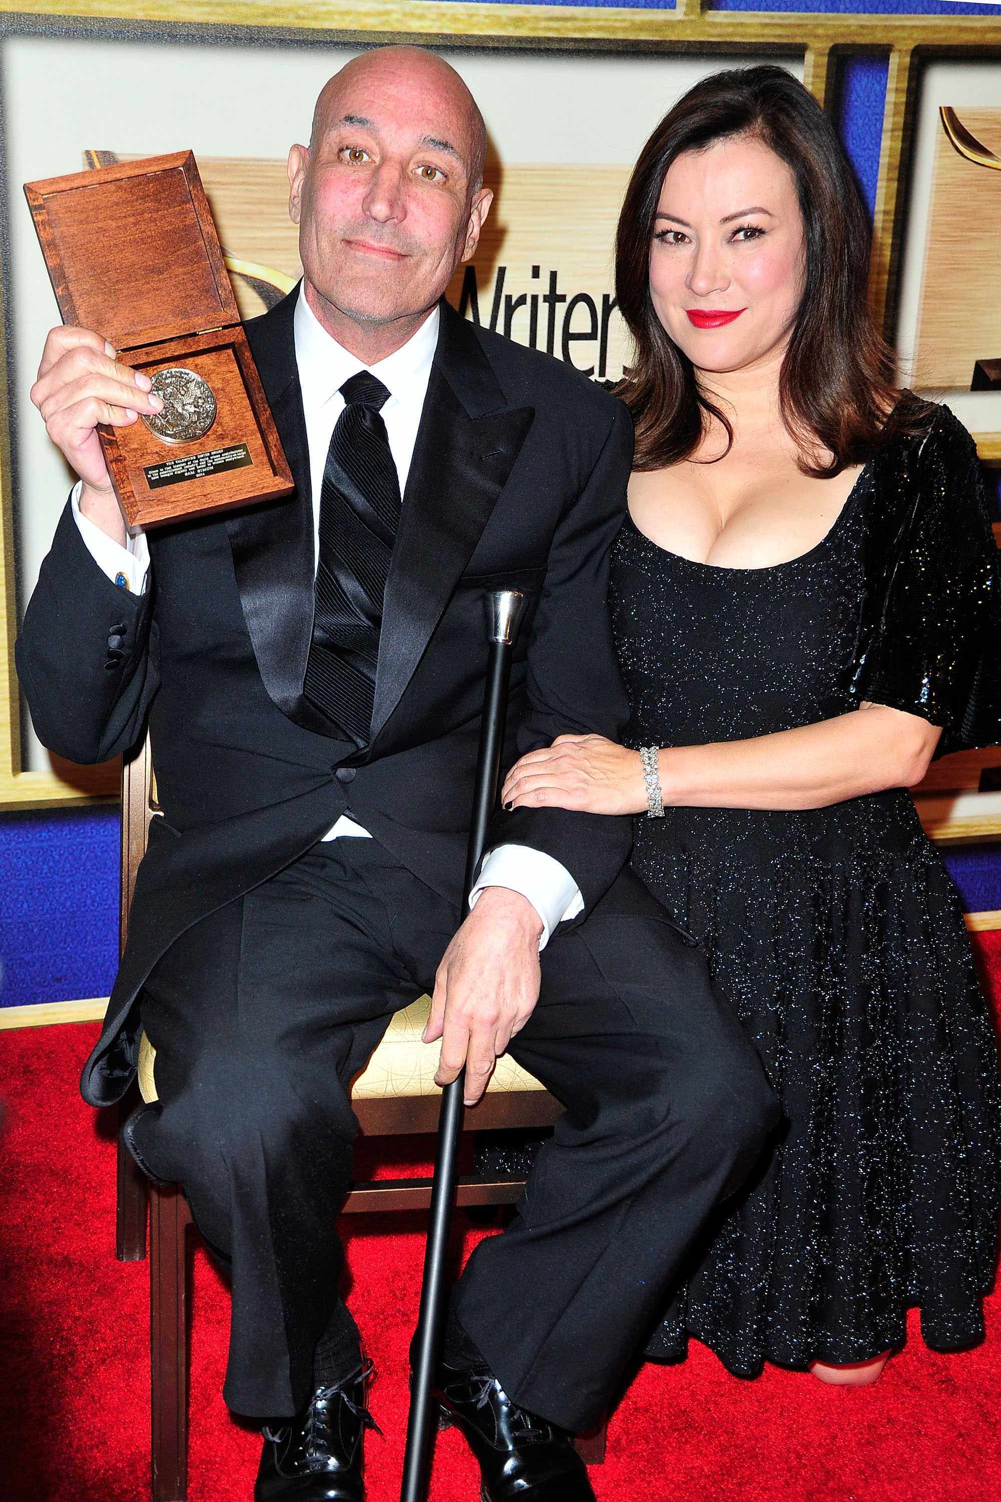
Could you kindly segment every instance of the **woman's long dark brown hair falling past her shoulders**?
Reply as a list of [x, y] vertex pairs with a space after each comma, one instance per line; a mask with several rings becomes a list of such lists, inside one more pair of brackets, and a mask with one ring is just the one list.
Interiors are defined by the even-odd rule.
[[[869, 219], [845, 150], [809, 90], [773, 65], [726, 69], [689, 89], [644, 146], [626, 189], [615, 296], [636, 357], [617, 394], [636, 425], [635, 469], [689, 458], [708, 415], [725, 427], [728, 451], [734, 439], [650, 296], [650, 246], [668, 168], [683, 152], [734, 135], [762, 141], [795, 179], [806, 275], [782, 357], [779, 401], [803, 473], [833, 476], [864, 463], [888, 437], [923, 431], [929, 404], [900, 400], [893, 348], [869, 309]], [[818, 440], [834, 455], [833, 464], [807, 463]]]

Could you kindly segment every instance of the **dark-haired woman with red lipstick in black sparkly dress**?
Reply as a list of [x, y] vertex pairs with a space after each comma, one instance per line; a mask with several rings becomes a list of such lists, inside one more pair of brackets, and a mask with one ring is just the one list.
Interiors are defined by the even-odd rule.
[[503, 793], [641, 816], [635, 868], [785, 1107], [648, 1355], [692, 1334], [743, 1376], [842, 1383], [875, 1380], [912, 1305], [936, 1350], [981, 1338], [1001, 1163], [987, 1006], [906, 792], [1001, 739], [998, 559], [969, 434], [894, 386], [867, 251], [785, 71], [717, 74], [654, 131], [617, 242], [629, 748], [560, 737]]

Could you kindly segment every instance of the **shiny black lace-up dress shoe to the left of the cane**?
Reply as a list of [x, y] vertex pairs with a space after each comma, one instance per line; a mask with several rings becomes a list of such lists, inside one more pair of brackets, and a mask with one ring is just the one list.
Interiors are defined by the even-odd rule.
[[350, 1382], [317, 1388], [288, 1424], [264, 1430], [254, 1502], [365, 1502], [363, 1437], [378, 1428], [365, 1407], [366, 1362]]

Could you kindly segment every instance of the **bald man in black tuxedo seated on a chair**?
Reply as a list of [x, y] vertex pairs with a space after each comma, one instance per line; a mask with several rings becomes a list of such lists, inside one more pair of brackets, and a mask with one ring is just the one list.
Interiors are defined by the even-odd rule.
[[98, 422], [158, 410], [101, 330], [54, 329], [33, 401], [80, 476], [18, 668], [75, 762], [149, 731], [162, 817], [83, 1092], [137, 1038], [128, 1140], [225, 1259], [225, 1398], [266, 1419], [258, 1502], [360, 1502], [368, 1362], [338, 1293], [351, 1077], [432, 991], [438, 1081], [506, 1050], [566, 1107], [513, 1224], [453, 1298], [440, 1400], [486, 1502], [593, 1497], [597, 1422], [776, 1108], [705, 963], [626, 865], [629, 819], [498, 814], [461, 913], [491, 589], [522, 590], [504, 765], [618, 740], [608, 553], [624, 407], [443, 300], [491, 206], [485, 129], [441, 59], [384, 48], [288, 158], [303, 279], [248, 326], [291, 500], [128, 536]]

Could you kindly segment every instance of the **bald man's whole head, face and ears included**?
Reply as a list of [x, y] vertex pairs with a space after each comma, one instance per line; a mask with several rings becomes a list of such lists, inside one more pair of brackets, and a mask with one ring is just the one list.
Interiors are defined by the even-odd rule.
[[410, 338], [479, 242], [486, 131], [455, 68], [378, 47], [326, 84], [309, 149], [288, 153], [288, 212], [309, 306], [374, 363]]

